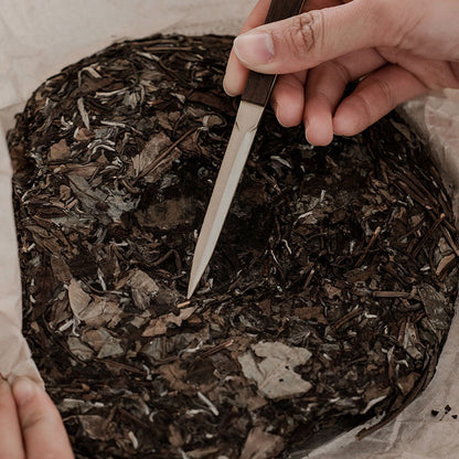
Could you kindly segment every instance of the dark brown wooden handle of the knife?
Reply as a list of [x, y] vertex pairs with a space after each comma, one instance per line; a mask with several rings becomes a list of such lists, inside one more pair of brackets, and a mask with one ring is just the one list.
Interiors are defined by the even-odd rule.
[[[305, 0], [271, 0], [265, 23], [281, 21], [301, 12]], [[277, 75], [265, 75], [250, 71], [243, 100], [265, 107], [271, 95]]]

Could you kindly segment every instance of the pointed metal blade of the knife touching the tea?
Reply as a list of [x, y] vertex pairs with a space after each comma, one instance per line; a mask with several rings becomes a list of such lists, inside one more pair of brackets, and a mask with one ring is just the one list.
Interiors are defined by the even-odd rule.
[[214, 252], [265, 107], [243, 100], [220, 168], [191, 267], [188, 298], [193, 295]]

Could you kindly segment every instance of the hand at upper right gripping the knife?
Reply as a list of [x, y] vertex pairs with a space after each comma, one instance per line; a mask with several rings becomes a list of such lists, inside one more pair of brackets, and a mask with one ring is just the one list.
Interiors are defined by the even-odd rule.
[[258, 1], [235, 40], [224, 87], [241, 94], [247, 68], [281, 74], [276, 116], [286, 127], [303, 121], [312, 145], [359, 134], [431, 89], [459, 88], [458, 0], [310, 0], [302, 14], [258, 26], [269, 3]]

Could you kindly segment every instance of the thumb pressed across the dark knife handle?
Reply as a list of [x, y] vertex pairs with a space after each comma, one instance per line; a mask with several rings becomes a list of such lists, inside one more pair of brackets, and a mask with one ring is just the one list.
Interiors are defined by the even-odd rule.
[[[234, 52], [260, 73], [293, 73], [369, 46], [396, 40], [383, 21], [391, 0], [354, 0], [265, 24], [239, 35]], [[383, 14], [382, 14], [383, 13]], [[388, 18], [387, 18], [388, 19]]]

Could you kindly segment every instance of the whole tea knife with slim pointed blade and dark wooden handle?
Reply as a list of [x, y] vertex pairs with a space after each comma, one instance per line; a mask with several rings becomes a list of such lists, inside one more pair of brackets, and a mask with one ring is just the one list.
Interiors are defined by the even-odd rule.
[[[265, 23], [300, 13], [305, 0], [271, 0]], [[277, 75], [249, 72], [233, 132], [223, 157], [191, 266], [188, 298], [191, 298], [211, 260], [241, 174], [269, 100]]]

